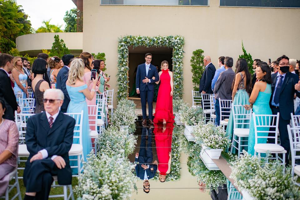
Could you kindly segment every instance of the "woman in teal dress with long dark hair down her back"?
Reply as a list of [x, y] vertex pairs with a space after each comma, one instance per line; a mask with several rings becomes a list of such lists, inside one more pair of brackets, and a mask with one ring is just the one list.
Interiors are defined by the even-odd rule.
[[[240, 58], [236, 63], [236, 75], [232, 83], [232, 108], [234, 105], [246, 105], [249, 103], [249, 94], [251, 93], [251, 75], [248, 70], [247, 61], [244, 58]], [[236, 128], [249, 128], [248, 125], [238, 124]], [[232, 141], [233, 135], [233, 109], [229, 116], [228, 125], [226, 128], [226, 135]], [[235, 138], [238, 140], [238, 138]], [[244, 140], [246, 138], [242, 138]], [[243, 144], [243, 143], [242, 143]], [[237, 144], [235, 145], [237, 147]], [[232, 149], [232, 153], [236, 153], [236, 149]]]

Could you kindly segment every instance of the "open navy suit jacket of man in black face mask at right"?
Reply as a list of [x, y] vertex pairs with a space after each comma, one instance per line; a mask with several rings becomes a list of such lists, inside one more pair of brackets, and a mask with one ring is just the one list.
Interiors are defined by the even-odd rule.
[[[277, 72], [278, 73], [278, 72]], [[272, 106], [272, 99], [275, 90], [277, 73], [271, 75], [272, 77], [272, 96], [270, 98], [270, 106]], [[295, 90], [295, 84], [298, 83], [299, 77], [297, 74], [287, 72], [281, 87], [279, 95], [279, 110], [280, 116], [285, 120], [291, 119], [291, 113], [294, 113], [294, 94], [300, 98], [300, 93]]]

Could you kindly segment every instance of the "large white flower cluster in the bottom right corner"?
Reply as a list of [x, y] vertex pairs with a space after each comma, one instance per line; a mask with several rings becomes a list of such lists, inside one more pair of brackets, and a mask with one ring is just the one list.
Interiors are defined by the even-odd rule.
[[265, 163], [245, 150], [243, 153], [232, 163], [230, 175], [240, 190], [245, 189], [253, 198], [261, 200], [300, 199], [299, 187], [293, 183], [289, 168], [283, 172], [279, 162]]

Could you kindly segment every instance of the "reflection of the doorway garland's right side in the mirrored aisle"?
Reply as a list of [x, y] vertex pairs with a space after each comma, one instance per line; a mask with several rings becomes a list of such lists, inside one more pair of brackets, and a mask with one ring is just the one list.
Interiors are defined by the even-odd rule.
[[[174, 125], [172, 134], [172, 160], [171, 160], [171, 171], [166, 176], [166, 181], [176, 181], [180, 179], [180, 142], [178, 137], [183, 134], [184, 127]], [[154, 180], [158, 180], [159, 173], [156, 173]]]

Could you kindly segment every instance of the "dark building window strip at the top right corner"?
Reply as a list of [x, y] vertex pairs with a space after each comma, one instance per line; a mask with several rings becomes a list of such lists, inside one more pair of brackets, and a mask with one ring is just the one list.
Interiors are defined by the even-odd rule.
[[220, 0], [220, 6], [300, 8], [299, 0]]

